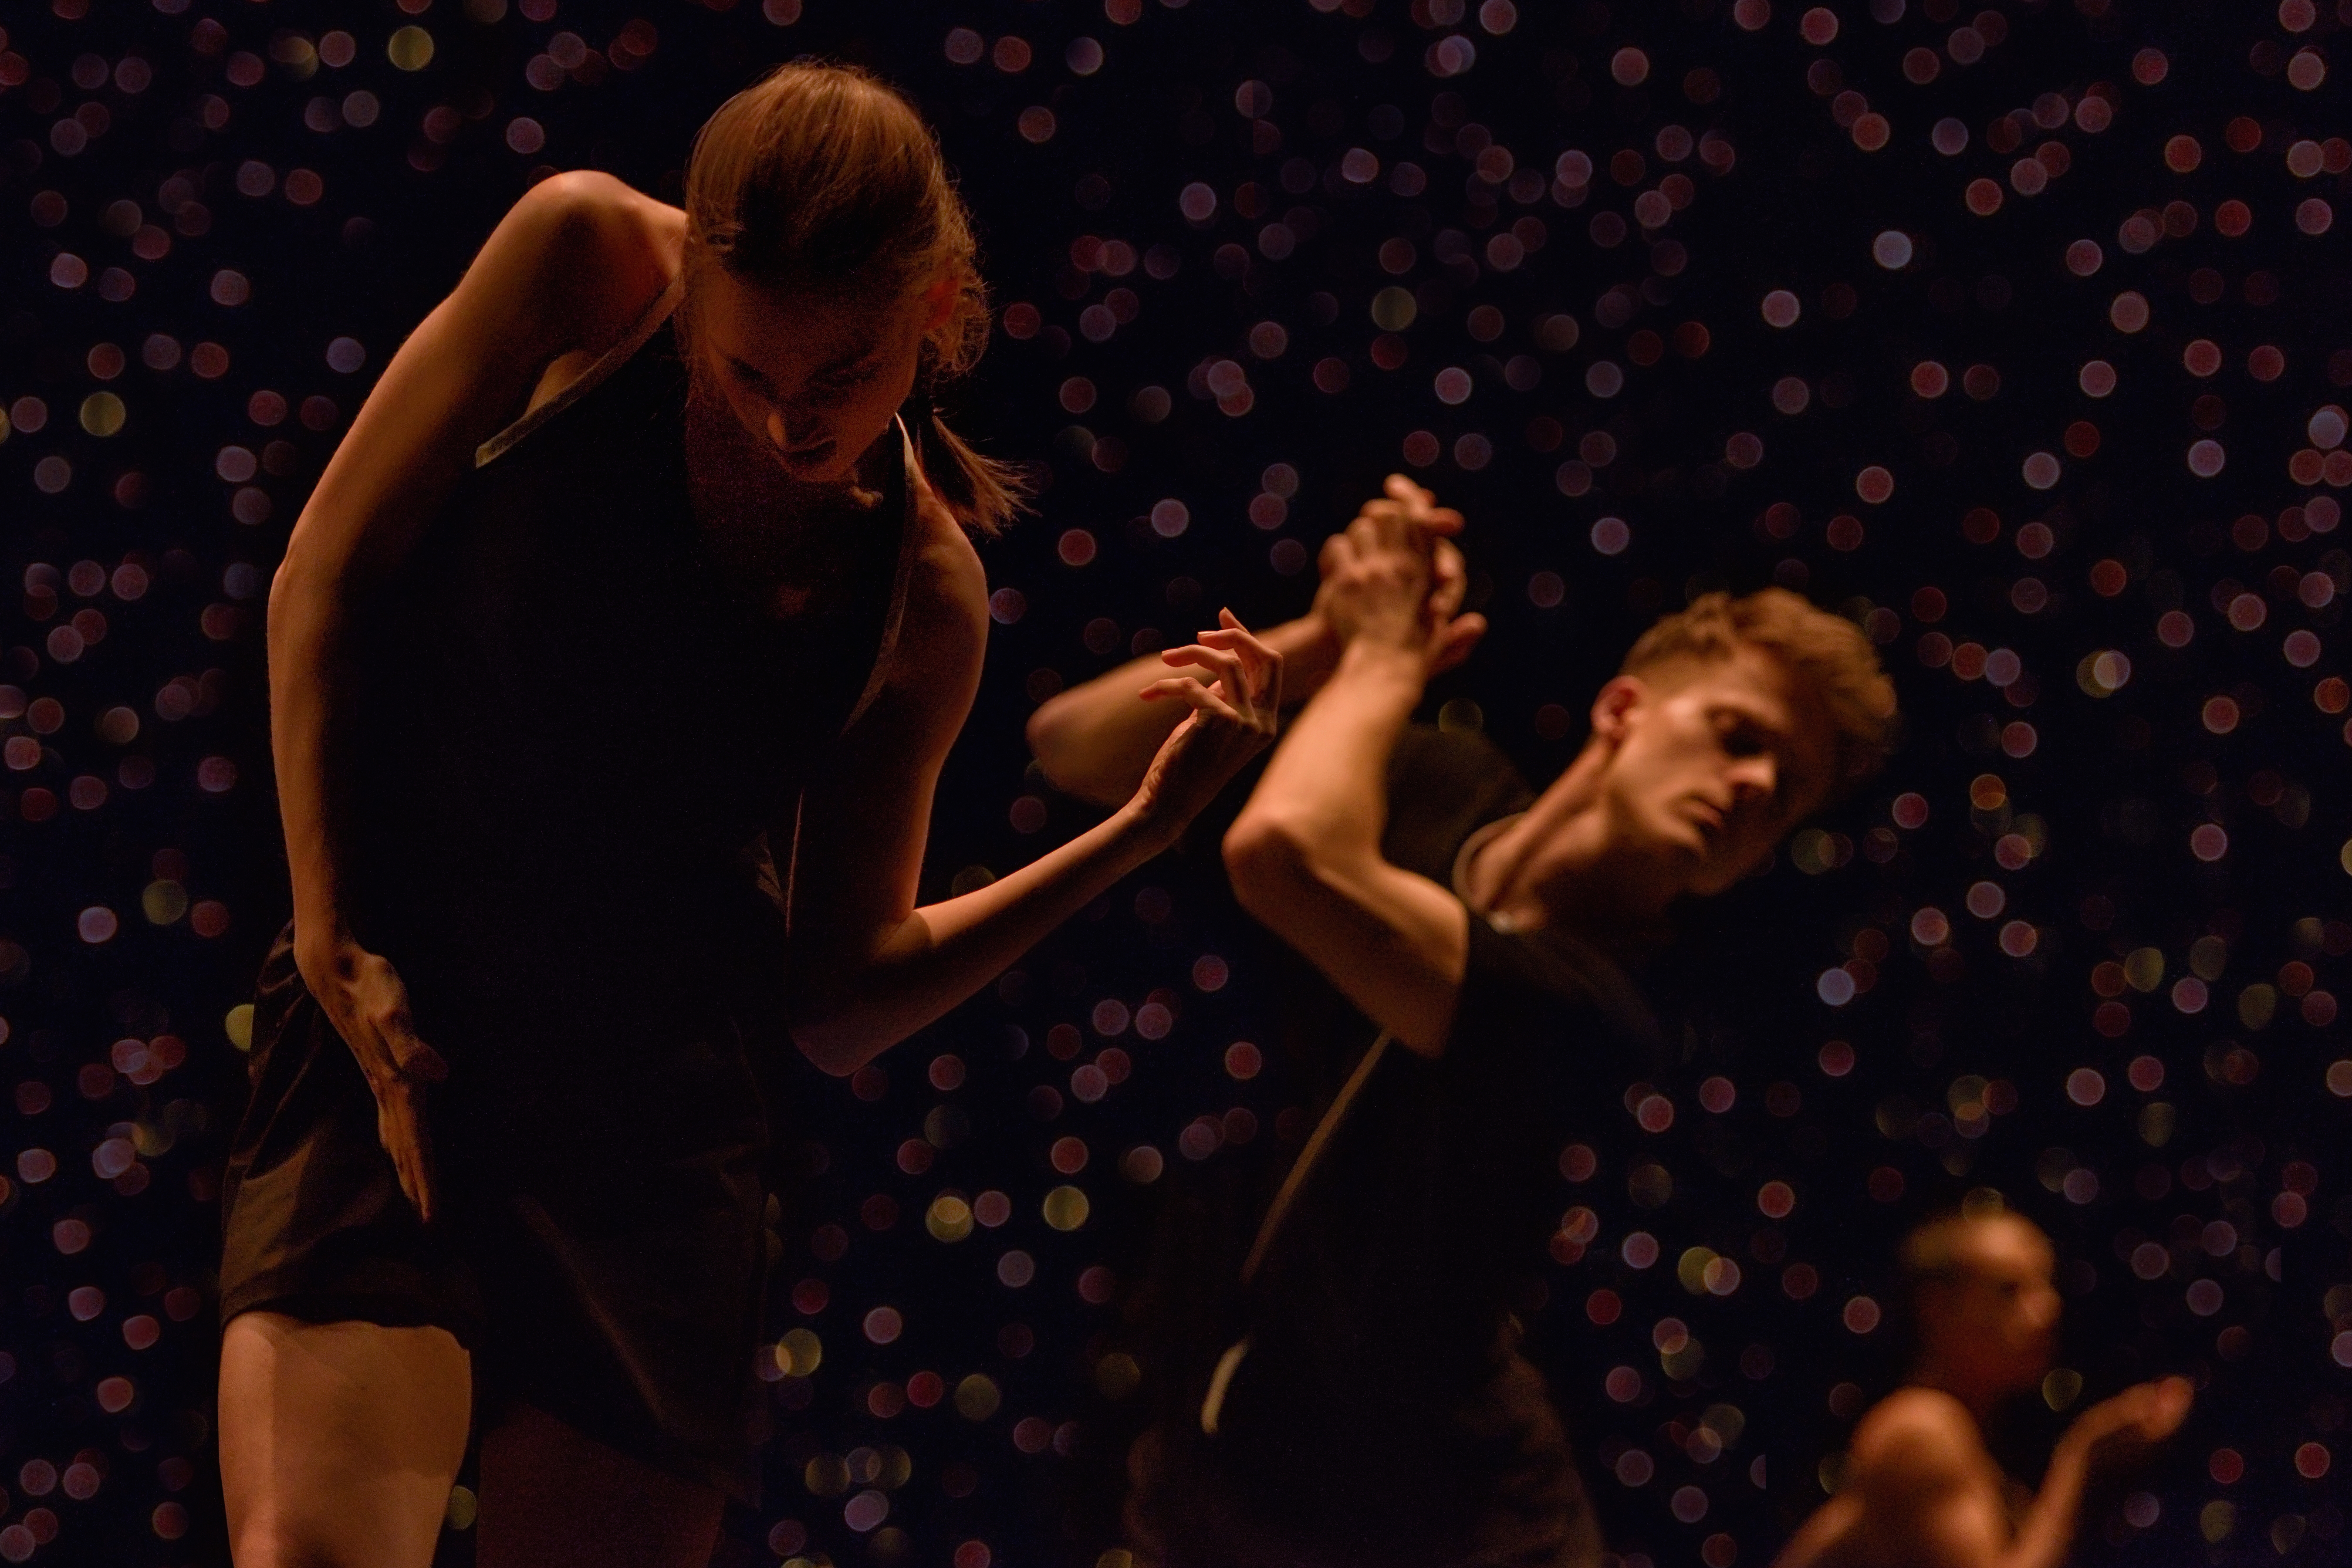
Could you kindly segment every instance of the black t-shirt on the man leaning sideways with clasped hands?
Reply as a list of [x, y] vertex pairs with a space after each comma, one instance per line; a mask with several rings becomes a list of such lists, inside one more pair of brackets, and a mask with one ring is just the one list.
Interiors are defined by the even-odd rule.
[[[1465, 842], [1531, 790], [1482, 736], [1416, 726], [1388, 802], [1388, 860], [1456, 889]], [[1282, 1001], [1294, 1067], [1327, 1084], [1319, 1112], [1378, 1030], [1303, 961]], [[1385, 1048], [1249, 1291], [1249, 1352], [1207, 1448], [1261, 1507], [1294, 1526], [1371, 1514], [1439, 1528], [1498, 1507], [1531, 1443], [1559, 1446], [1541, 1385], [1515, 1368], [1510, 1309], [1557, 1225], [1559, 1147], [1639, 1072], [1649, 1027], [1595, 950], [1470, 917], [1446, 1048]], [[1557, 1507], [1581, 1509], [1562, 1483]]]

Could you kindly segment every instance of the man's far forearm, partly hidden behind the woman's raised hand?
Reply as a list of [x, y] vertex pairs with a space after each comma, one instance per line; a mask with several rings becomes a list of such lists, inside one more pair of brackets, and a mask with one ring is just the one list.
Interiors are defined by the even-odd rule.
[[[1338, 663], [1338, 644], [1312, 614], [1284, 621], [1261, 639], [1282, 654], [1284, 708], [1315, 696]], [[1145, 654], [1082, 686], [1070, 686], [1030, 715], [1030, 752], [1054, 788], [1096, 806], [1117, 806], [1134, 795], [1160, 745], [1190, 712], [1183, 703], [1145, 703], [1138, 696], [1169, 675], [1200, 677], [1195, 670], [1164, 665], [1157, 654]]]

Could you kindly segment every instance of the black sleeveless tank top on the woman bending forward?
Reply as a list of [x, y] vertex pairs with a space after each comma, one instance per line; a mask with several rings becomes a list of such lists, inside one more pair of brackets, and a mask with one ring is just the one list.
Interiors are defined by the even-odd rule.
[[459, 1067], [642, 1065], [764, 994], [764, 835], [788, 863], [898, 630], [906, 423], [880, 498], [811, 524], [826, 583], [779, 621], [699, 538], [675, 299], [480, 449], [365, 616], [348, 903]]

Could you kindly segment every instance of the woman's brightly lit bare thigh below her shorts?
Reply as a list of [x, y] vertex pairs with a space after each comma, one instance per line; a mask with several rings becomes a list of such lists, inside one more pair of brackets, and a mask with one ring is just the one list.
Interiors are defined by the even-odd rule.
[[423, 1568], [466, 1458], [473, 1373], [445, 1328], [240, 1312], [221, 1335], [238, 1568]]

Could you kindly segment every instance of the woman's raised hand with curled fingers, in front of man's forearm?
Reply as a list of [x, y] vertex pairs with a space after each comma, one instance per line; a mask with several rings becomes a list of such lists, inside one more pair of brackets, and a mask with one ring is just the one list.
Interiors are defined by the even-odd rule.
[[1258, 642], [1230, 609], [1216, 611], [1216, 618], [1218, 628], [1202, 632], [1200, 642], [1160, 656], [1167, 665], [1207, 670], [1214, 682], [1169, 675], [1143, 689], [1145, 701], [1192, 705], [1152, 757], [1131, 802], [1169, 839], [1272, 743], [1282, 710], [1282, 654]]

